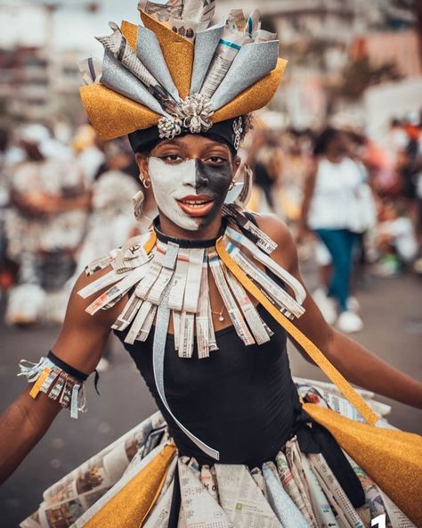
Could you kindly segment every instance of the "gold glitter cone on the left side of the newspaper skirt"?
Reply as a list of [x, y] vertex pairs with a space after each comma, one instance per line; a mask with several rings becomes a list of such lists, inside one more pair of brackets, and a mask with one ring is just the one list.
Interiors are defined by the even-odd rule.
[[86, 528], [138, 528], [161, 491], [174, 457], [174, 444], [166, 445], [126, 486], [86, 524]]

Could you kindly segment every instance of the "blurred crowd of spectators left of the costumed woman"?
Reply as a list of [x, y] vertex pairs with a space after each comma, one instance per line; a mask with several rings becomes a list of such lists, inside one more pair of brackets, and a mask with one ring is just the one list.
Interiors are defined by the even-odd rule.
[[[84, 125], [1, 131], [0, 285], [9, 325], [61, 322], [85, 265], [144, 227], [134, 218], [139, 170], [126, 141]], [[155, 205], [144, 200], [155, 215]]]

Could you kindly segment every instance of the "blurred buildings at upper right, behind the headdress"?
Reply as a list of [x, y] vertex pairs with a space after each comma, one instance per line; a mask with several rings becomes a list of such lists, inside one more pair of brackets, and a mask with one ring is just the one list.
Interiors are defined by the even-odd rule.
[[[237, 0], [221, 2], [219, 13], [238, 4]], [[411, 2], [242, 2], [244, 12], [256, 6], [263, 14], [264, 29], [276, 31], [280, 37], [280, 56], [288, 59], [272, 108], [287, 114], [296, 128], [320, 126], [338, 111], [364, 120], [357, 103], [365, 87], [422, 73]], [[357, 49], [361, 54], [356, 54]]]

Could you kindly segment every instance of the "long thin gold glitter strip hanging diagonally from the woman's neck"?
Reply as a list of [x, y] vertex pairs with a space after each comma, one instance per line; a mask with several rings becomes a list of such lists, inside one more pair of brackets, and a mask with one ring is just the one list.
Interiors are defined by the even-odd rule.
[[304, 349], [308, 356], [321, 368], [322, 372], [329, 377], [329, 380], [335, 384], [339, 391], [341, 391], [347, 400], [361, 413], [369, 425], [376, 425], [378, 417], [376, 413], [369, 407], [361, 396], [353, 389], [352, 385], [347, 382], [345, 377], [341, 375], [337, 368], [334, 367], [320, 351], [320, 349], [313, 344], [313, 342], [306, 337], [298, 328], [296, 328], [291, 321], [288, 320], [278, 309], [276, 309], [272, 301], [270, 301], [264, 293], [248, 278], [244, 271], [239, 268], [238, 264], [231, 259], [231, 256], [226, 251], [223, 243], [223, 238], [219, 238], [215, 243], [215, 248], [223, 260], [224, 265], [230, 269], [231, 273], [239, 280], [239, 283], [259, 301], [265, 309], [272, 315], [272, 317], [290, 334], [293, 339]]

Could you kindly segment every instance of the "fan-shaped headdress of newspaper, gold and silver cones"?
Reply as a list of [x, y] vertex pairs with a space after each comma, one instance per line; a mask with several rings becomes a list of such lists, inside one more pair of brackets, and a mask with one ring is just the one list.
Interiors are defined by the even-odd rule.
[[144, 139], [211, 135], [220, 124], [217, 136], [237, 149], [239, 117], [269, 103], [287, 62], [275, 35], [260, 29], [259, 12], [245, 20], [234, 10], [207, 29], [214, 7], [215, 0], [147, 2], [140, 25], [110, 22], [111, 35], [97, 37], [103, 61], [81, 63], [80, 94], [102, 139], [144, 131], [131, 136], [136, 148]]

